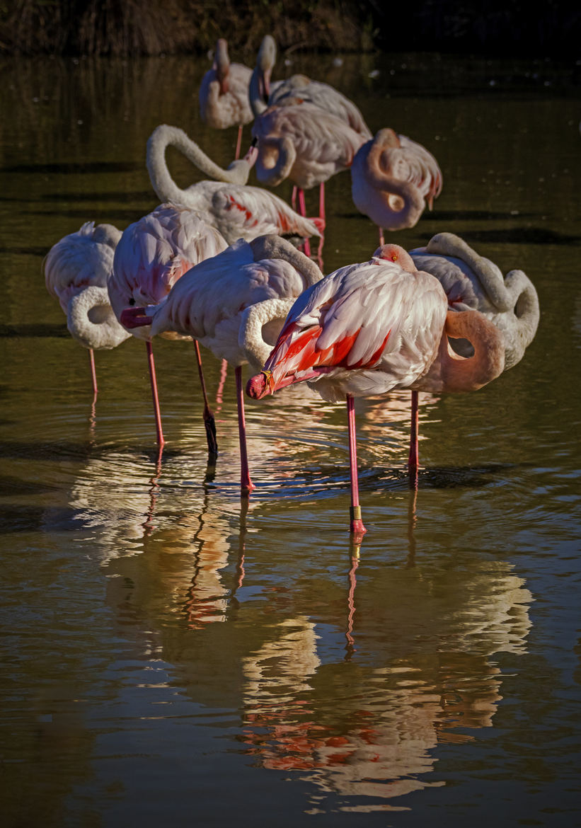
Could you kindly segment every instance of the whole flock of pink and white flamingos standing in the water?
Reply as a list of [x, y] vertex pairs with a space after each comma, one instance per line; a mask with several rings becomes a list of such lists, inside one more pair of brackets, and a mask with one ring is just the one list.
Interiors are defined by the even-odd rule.
[[[360, 540], [353, 398], [411, 390], [408, 467], [417, 486], [418, 392], [471, 391], [511, 368], [535, 335], [539, 303], [524, 272], [503, 277], [453, 233], [409, 253], [386, 244], [385, 230], [413, 227], [439, 195], [435, 157], [391, 128], [373, 137], [357, 106], [328, 84], [305, 75], [271, 82], [275, 62], [271, 36], [254, 70], [230, 63], [218, 40], [200, 113], [210, 127], [238, 127], [236, 160], [223, 169], [180, 128], [157, 127], [146, 165], [161, 205], [123, 232], [87, 222], [60, 239], [46, 256], [46, 286], [71, 335], [89, 349], [94, 394], [93, 350], [144, 339], [160, 446], [153, 337], [194, 340], [211, 454], [218, 445], [199, 344], [235, 367], [242, 493], [254, 488], [242, 364], [255, 372], [246, 389], [254, 399], [300, 382], [325, 400], [346, 399], [350, 531]], [[247, 123], [252, 144], [239, 158]], [[207, 177], [180, 189], [166, 165], [168, 146]], [[252, 168], [262, 185], [290, 179], [293, 206], [247, 185]], [[324, 182], [347, 169], [353, 203], [377, 224], [380, 244], [367, 261], [324, 276], [310, 239], [324, 235]], [[315, 186], [319, 216], [308, 218], [304, 190]], [[300, 249], [284, 237], [298, 237]]]

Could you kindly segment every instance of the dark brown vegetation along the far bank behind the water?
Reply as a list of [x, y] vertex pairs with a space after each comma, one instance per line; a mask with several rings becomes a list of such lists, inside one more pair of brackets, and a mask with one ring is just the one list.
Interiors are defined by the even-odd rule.
[[443, 51], [576, 60], [581, 2], [559, 0], [0, 0], [7, 55], [205, 52], [226, 36], [282, 50]]

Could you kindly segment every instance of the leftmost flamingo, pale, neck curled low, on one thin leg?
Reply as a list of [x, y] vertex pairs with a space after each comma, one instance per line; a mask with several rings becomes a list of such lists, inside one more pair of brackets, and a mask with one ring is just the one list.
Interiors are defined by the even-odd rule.
[[46, 288], [65, 311], [73, 339], [89, 349], [93, 393], [97, 395], [94, 350], [116, 348], [129, 334], [113, 314], [107, 292], [121, 231], [87, 221], [53, 244], [44, 261]]

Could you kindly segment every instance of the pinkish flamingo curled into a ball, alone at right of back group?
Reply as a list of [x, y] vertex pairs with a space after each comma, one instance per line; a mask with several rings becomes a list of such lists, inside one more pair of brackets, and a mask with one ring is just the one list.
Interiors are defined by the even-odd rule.
[[379, 228], [414, 227], [442, 190], [442, 173], [435, 157], [405, 135], [380, 129], [359, 148], [351, 166], [351, 195], [357, 209]]

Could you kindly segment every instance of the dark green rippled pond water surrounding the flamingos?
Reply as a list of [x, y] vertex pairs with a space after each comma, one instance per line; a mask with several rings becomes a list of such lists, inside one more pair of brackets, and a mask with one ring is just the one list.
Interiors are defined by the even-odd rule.
[[[235, 136], [199, 123], [205, 68], [0, 65], [2, 824], [577, 825], [579, 67], [288, 68], [437, 156], [433, 213], [392, 240], [458, 233], [540, 296], [521, 363], [422, 398], [416, 495], [407, 396], [358, 405], [358, 561], [342, 406], [302, 388], [248, 402], [257, 490], [241, 504], [233, 372], [208, 469], [191, 346], [157, 346], [159, 465], [142, 343], [97, 355], [92, 407], [44, 286], [58, 238], [156, 205], [158, 123], [229, 160]], [[327, 204], [325, 271], [369, 258], [347, 173]]]

